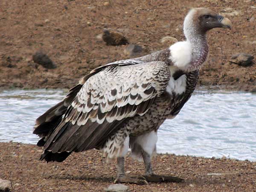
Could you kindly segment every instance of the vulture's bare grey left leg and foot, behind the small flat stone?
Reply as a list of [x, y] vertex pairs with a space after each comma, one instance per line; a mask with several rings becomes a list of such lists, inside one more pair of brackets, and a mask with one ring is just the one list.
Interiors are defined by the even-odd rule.
[[125, 157], [117, 157], [117, 175], [114, 183], [148, 185], [144, 177], [128, 177], [125, 175]]

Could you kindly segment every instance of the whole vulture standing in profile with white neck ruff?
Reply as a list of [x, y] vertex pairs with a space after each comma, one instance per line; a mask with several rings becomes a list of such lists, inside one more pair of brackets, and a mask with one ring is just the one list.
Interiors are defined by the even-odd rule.
[[[206, 8], [191, 9], [183, 23], [185, 41], [105, 64], [81, 78], [36, 119], [33, 133], [44, 147], [40, 160], [62, 162], [72, 152], [96, 148], [106, 160], [117, 158], [115, 183], [179, 182], [152, 170], [157, 129], [180, 112], [195, 90], [208, 54], [206, 33], [217, 27], [231, 29], [231, 21]], [[125, 174], [128, 148], [132, 157], [143, 160], [145, 175]]]

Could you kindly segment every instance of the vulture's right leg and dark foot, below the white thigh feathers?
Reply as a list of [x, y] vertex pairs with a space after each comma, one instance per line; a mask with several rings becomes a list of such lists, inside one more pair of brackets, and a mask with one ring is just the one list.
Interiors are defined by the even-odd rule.
[[182, 179], [180, 179], [179, 177], [173, 177], [173, 176], [166, 176], [166, 175], [155, 175], [153, 173], [152, 170], [152, 166], [151, 166], [151, 157], [148, 153], [146, 153], [144, 150], [142, 151], [142, 156], [143, 156], [143, 160], [144, 160], [144, 165], [145, 165], [145, 175], [143, 175], [143, 177], [145, 177], [145, 179], [148, 182], [181, 182]]

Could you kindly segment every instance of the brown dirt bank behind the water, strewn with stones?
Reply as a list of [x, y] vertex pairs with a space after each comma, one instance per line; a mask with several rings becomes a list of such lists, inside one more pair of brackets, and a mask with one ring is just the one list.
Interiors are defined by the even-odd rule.
[[[234, 90], [256, 90], [256, 64], [228, 64], [231, 55], [246, 52], [256, 56], [255, 0], [1, 0], [0, 87], [70, 88], [90, 70], [111, 61], [128, 58], [128, 45], [107, 46], [96, 38], [104, 28], [118, 29], [142, 54], [169, 47], [160, 39], [172, 36], [182, 41], [183, 18], [191, 7], [209, 7], [221, 12], [232, 7], [236, 16], [231, 31], [214, 29], [208, 34], [209, 56], [201, 69], [200, 85], [221, 85]], [[254, 17], [254, 20], [253, 20]], [[44, 50], [57, 65], [45, 69], [33, 63], [32, 55]]]

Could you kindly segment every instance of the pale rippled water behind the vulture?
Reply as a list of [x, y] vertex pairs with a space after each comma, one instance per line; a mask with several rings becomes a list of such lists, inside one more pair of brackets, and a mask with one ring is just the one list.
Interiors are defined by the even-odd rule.
[[[32, 134], [35, 119], [65, 93], [0, 92], [0, 142], [37, 143]], [[157, 152], [256, 161], [256, 94], [196, 91], [179, 115], [160, 127]]]

